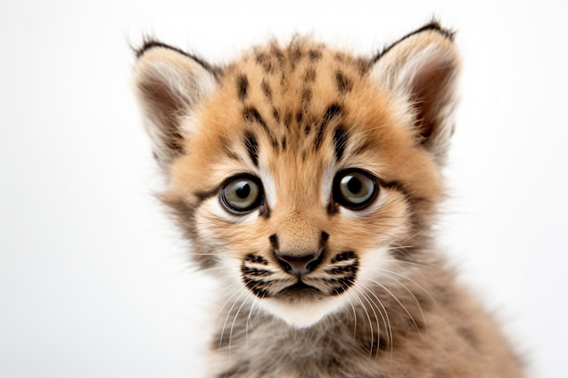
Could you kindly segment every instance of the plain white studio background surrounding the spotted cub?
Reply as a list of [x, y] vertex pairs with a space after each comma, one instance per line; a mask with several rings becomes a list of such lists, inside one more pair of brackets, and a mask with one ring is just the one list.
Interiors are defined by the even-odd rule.
[[214, 286], [152, 197], [129, 44], [221, 63], [299, 32], [370, 54], [432, 15], [464, 55], [441, 244], [534, 377], [568, 376], [566, 5], [202, 3], [0, 3], [0, 376], [203, 376]]

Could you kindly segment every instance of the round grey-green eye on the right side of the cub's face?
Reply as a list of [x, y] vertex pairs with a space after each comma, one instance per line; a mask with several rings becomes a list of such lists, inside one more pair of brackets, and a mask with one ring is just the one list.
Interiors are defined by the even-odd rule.
[[363, 170], [339, 172], [334, 183], [334, 200], [351, 209], [366, 207], [377, 197], [376, 179]]

